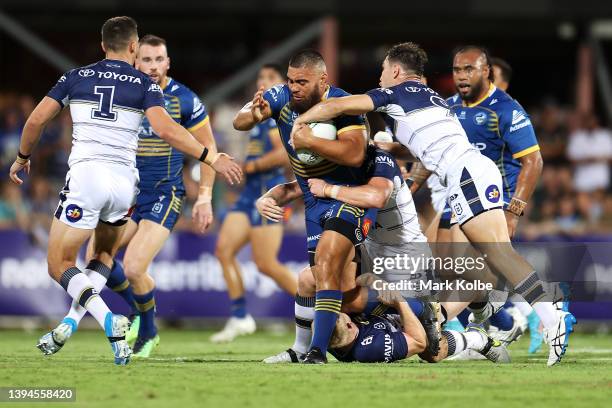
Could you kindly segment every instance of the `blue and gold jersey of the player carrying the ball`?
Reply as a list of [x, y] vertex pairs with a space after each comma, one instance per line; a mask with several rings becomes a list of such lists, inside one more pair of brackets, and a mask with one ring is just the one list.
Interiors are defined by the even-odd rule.
[[[323, 99], [339, 98], [347, 95], [349, 94], [342, 89], [331, 86], [326, 90]], [[289, 155], [291, 167], [293, 168], [298, 184], [304, 193], [304, 203], [306, 208], [309, 208], [317, 203], [317, 199], [312, 195], [310, 189], [308, 188], [307, 180], [311, 177], [323, 179], [330, 184], [345, 186], [356, 186], [364, 183], [366, 176], [364, 173], [364, 166], [342, 166], [325, 159], [313, 166], [308, 166], [302, 163], [298, 159], [293, 147], [291, 147], [289, 144], [293, 122], [299, 116], [297, 112], [294, 112], [291, 109], [289, 103], [291, 100], [291, 91], [289, 90], [289, 87], [287, 85], [277, 85], [268, 89], [264, 93], [263, 97], [270, 103], [272, 118], [276, 120], [276, 124], [278, 125], [278, 129], [280, 131], [281, 140]], [[342, 115], [335, 118], [333, 122], [336, 126], [338, 134], [354, 129], [363, 129], [365, 131], [365, 120], [362, 116]]]

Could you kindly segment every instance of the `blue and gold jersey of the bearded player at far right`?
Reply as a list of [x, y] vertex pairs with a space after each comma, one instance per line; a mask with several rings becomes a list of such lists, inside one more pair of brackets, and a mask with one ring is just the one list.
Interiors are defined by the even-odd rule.
[[497, 164], [503, 180], [504, 201], [508, 204], [521, 171], [518, 159], [540, 149], [527, 112], [493, 84], [473, 104], [463, 103], [459, 95], [449, 98], [448, 104], [470, 143]]

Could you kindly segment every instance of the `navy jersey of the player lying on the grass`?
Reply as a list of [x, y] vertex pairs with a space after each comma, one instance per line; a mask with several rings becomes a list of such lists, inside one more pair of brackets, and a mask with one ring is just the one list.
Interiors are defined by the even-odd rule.
[[353, 322], [359, 329], [353, 347], [345, 355], [330, 350], [339, 361], [392, 363], [408, 356], [408, 342], [397, 315], [368, 315]]

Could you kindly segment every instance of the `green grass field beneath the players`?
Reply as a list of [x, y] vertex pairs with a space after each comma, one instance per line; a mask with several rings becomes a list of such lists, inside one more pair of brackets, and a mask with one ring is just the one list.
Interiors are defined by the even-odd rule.
[[[514, 362], [327, 366], [260, 363], [291, 344], [292, 335], [243, 337], [208, 343], [209, 332], [165, 330], [154, 358], [112, 363], [100, 332], [78, 332], [64, 349], [43, 357], [41, 333], [0, 331], [0, 387], [75, 387], [84, 407], [442, 407], [612, 406], [612, 337], [578, 334], [563, 363], [546, 367], [544, 352], [527, 355], [524, 337], [511, 347]], [[3, 406], [25, 403], [0, 403]]]

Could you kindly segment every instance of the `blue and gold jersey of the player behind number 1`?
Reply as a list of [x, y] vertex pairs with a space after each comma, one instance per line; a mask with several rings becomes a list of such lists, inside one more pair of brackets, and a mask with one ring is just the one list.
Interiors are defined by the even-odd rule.
[[[168, 78], [164, 92], [166, 110], [177, 123], [193, 132], [208, 123], [206, 107], [185, 85]], [[153, 132], [147, 118], [139, 129], [136, 163], [140, 172], [141, 190], [184, 190], [184, 154]]]

